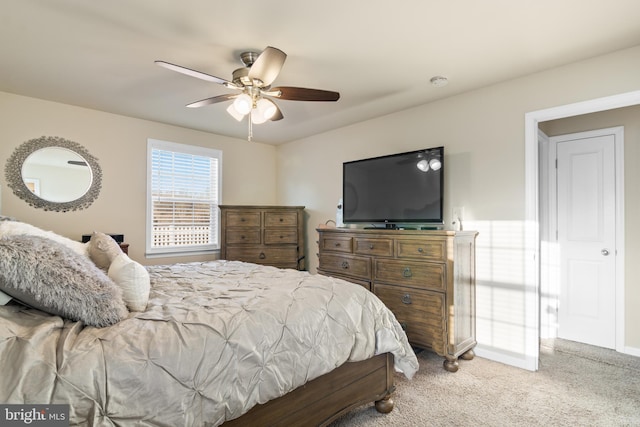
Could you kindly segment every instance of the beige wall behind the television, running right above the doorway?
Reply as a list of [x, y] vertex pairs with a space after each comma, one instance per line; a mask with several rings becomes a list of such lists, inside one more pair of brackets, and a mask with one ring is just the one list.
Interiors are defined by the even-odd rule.
[[[480, 232], [478, 348], [518, 365], [537, 352], [525, 340], [537, 316], [527, 303], [535, 289], [527, 286], [525, 113], [638, 90], [639, 69], [636, 47], [280, 146], [278, 202], [307, 206], [310, 270], [317, 267], [314, 228], [335, 217], [343, 161], [444, 145], [445, 220], [452, 207], [463, 206], [465, 227]], [[629, 273], [628, 288], [640, 280], [637, 271]], [[630, 306], [640, 305], [637, 292], [629, 297]], [[638, 354], [639, 316], [628, 313], [625, 343]]]

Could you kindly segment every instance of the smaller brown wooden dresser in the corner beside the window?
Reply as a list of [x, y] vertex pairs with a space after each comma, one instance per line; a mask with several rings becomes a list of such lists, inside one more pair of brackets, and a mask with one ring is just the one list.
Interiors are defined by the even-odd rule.
[[304, 270], [304, 206], [220, 206], [220, 258]]

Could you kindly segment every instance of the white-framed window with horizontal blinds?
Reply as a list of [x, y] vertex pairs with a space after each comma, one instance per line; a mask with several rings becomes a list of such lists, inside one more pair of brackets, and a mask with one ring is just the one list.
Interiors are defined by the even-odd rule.
[[147, 255], [219, 249], [222, 152], [147, 141]]

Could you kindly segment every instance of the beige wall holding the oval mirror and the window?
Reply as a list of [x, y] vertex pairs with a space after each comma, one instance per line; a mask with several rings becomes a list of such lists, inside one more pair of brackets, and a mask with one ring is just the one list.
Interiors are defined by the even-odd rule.
[[[0, 92], [2, 214], [72, 239], [93, 230], [123, 233], [132, 258], [143, 264], [211, 259], [212, 256], [146, 259], [147, 138], [200, 145], [223, 152], [222, 201], [273, 204], [276, 201], [275, 147], [146, 120]], [[22, 142], [59, 136], [83, 145], [98, 158], [102, 190], [88, 209], [45, 212], [13, 195], [4, 166]]]

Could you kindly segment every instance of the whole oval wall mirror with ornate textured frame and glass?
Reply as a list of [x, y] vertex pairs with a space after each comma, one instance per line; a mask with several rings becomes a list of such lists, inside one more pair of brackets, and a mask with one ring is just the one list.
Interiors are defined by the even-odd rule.
[[7, 160], [5, 174], [16, 196], [47, 211], [85, 209], [102, 185], [97, 159], [82, 145], [59, 137], [20, 145]]

